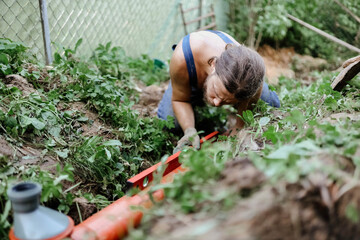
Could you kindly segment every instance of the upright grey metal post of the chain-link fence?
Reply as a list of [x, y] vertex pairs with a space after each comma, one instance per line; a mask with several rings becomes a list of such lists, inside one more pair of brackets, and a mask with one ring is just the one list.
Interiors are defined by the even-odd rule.
[[46, 0], [39, 0], [39, 6], [40, 6], [41, 26], [43, 30], [46, 65], [50, 65], [52, 63], [52, 57], [51, 57], [50, 30], [49, 30], [49, 20], [47, 16]]

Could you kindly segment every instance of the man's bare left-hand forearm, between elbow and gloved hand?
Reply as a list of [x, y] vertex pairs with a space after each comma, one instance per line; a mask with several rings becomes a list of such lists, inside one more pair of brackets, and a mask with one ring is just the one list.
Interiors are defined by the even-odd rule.
[[190, 103], [172, 101], [175, 117], [185, 132], [189, 127], [195, 127], [194, 110]]

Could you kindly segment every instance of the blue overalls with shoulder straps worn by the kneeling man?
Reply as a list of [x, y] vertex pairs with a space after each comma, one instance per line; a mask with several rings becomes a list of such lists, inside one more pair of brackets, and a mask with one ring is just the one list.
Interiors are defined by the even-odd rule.
[[[224, 33], [220, 32], [220, 31], [214, 31], [214, 30], [208, 30], [208, 31], [218, 35], [225, 43], [233, 43], [233, 41], [230, 38], [228, 38]], [[175, 47], [176, 47], [176, 45], [173, 46], [173, 50], [175, 49]], [[182, 48], [183, 48], [183, 53], [184, 53], [184, 57], [185, 57], [185, 61], [186, 61], [186, 67], [187, 67], [187, 70], [189, 73], [189, 80], [190, 80], [190, 86], [191, 86], [190, 103], [192, 106], [203, 105], [203, 101], [202, 101], [203, 100], [203, 92], [202, 92], [202, 89], [199, 89], [197, 87], [196, 67], [195, 67], [195, 62], [194, 62], [194, 56], [192, 54], [191, 47], [190, 47], [190, 34], [186, 35], [183, 38]], [[164, 119], [164, 120], [167, 119], [167, 116], [173, 116], [175, 118], [175, 128], [179, 128], [180, 126], [176, 120], [174, 110], [172, 108], [171, 98], [172, 98], [172, 86], [171, 86], [171, 82], [170, 82], [167, 90], [164, 93], [164, 96], [162, 97], [162, 99], [160, 101], [157, 115], [159, 118]], [[279, 101], [277, 94], [274, 91], [271, 91], [269, 89], [269, 86], [265, 82], [263, 85], [263, 89], [262, 89], [260, 98], [263, 101], [265, 101], [266, 103], [268, 103], [270, 106], [280, 107], [280, 101]]]

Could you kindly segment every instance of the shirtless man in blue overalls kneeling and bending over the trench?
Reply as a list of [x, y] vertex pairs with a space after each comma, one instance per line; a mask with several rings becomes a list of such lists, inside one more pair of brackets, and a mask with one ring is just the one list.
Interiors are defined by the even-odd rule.
[[[158, 117], [175, 117], [175, 127], [184, 136], [174, 153], [186, 145], [200, 147], [193, 106], [204, 99], [212, 106], [232, 104], [238, 114], [251, 109], [259, 98], [279, 107], [275, 92], [264, 83], [265, 65], [261, 56], [220, 31], [199, 31], [185, 36], [176, 45], [170, 60], [171, 83], [158, 107]], [[236, 129], [244, 122], [238, 117]]]

